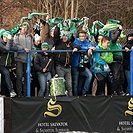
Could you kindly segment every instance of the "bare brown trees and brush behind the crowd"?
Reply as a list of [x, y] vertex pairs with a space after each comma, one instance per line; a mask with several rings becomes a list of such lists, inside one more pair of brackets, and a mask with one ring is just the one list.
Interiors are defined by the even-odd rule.
[[132, 28], [132, 5], [133, 0], [1, 0], [0, 28], [15, 26], [31, 12], [47, 12], [52, 18], [64, 19], [86, 16], [89, 26], [95, 20], [106, 23], [107, 19], [117, 19], [124, 28]]

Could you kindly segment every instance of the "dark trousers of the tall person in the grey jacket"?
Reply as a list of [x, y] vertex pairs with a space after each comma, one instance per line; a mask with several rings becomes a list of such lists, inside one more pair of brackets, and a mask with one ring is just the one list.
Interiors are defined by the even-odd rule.
[[17, 93], [18, 96], [22, 96], [22, 78], [24, 77], [24, 89], [23, 89], [23, 94], [24, 96], [27, 96], [27, 65], [26, 63], [17, 61], [16, 62], [16, 88], [17, 88]]

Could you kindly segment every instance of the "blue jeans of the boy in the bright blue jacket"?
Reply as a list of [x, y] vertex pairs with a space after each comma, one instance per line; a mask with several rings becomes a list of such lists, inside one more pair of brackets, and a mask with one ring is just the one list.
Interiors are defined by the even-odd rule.
[[85, 67], [84, 71], [79, 71], [78, 68], [72, 67], [72, 88], [74, 96], [78, 96], [78, 84], [80, 83], [79, 75], [86, 77], [82, 94], [88, 93], [92, 80], [92, 73], [87, 67]]

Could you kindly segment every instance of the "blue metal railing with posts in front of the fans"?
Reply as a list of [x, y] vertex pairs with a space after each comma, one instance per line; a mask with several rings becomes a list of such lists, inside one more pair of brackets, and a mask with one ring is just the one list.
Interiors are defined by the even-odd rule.
[[[93, 52], [122, 52], [125, 50], [95, 50]], [[15, 52], [15, 51], [9, 51]], [[16, 52], [25, 52], [24, 50], [19, 50]], [[31, 60], [30, 56], [32, 52], [72, 52], [72, 50], [31, 50], [27, 53], [27, 96], [31, 96], [30, 89], [30, 69], [31, 69]], [[78, 52], [86, 52], [86, 50], [79, 50]], [[129, 50], [130, 52], [130, 95], [133, 95], [133, 50]]]

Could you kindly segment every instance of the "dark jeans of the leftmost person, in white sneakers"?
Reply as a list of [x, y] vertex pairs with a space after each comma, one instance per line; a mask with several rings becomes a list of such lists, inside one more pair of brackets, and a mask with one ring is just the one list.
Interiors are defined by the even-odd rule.
[[11, 85], [11, 77], [10, 77], [9, 69], [6, 68], [5, 66], [1, 66], [0, 65], [0, 73], [2, 73], [4, 75], [5, 83], [6, 83], [6, 86], [7, 86], [8, 90], [9, 90], [9, 92], [14, 91], [12, 89], [12, 85]]

